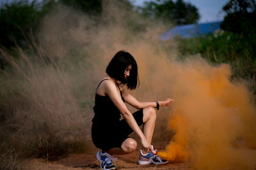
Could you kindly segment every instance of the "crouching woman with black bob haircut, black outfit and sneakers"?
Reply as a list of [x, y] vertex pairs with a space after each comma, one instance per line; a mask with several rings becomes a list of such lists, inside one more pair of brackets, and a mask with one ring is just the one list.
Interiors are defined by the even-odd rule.
[[[112, 155], [132, 153], [137, 142], [128, 135], [135, 132], [141, 142], [139, 164], [165, 164], [166, 160], [156, 155], [151, 139], [159, 106], [170, 106], [173, 99], [157, 102], [139, 102], [125, 90], [134, 90], [138, 85], [138, 67], [132, 55], [125, 51], [117, 52], [109, 62], [107, 75], [100, 81], [93, 111], [92, 140], [101, 150], [97, 153], [101, 169], [115, 169]], [[140, 109], [135, 113], [125, 106], [125, 102]], [[120, 114], [124, 118], [120, 120]], [[143, 131], [140, 125], [143, 124]], [[155, 153], [155, 154], [154, 154]]]

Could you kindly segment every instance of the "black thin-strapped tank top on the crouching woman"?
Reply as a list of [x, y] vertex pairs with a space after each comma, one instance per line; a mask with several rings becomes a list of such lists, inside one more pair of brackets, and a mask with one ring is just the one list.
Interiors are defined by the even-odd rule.
[[[104, 79], [104, 80], [109, 80], [109, 79]], [[100, 83], [102, 81], [100, 81]], [[120, 95], [122, 97], [122, 101], [124, 101], [124, 97], [122, 96], [121, 90], [120, 90]], [[95, 93], [95, 106], [93, 107], [93, 111], [94, 111], [94, 117], [92, 119], [93, 124], [115, 125], [117, 124], [117, 122], [119, 122], [121, 118], [120, 111], [118, 110], [118, 108], [116, 108], [115, 104], [113, 104], [111, 99], [108, 96], [100, 96], [97, 93]]]

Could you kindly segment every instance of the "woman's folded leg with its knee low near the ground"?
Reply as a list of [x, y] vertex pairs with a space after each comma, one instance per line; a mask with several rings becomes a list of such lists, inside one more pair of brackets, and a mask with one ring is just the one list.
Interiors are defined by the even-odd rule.
[[111, 148], [109, 150], [103, 150], [111, 155], [125, 155], [134, 152], [137, 148], [137, 142], [132, 138], [127, 138], [122, 143], [121, 148]]

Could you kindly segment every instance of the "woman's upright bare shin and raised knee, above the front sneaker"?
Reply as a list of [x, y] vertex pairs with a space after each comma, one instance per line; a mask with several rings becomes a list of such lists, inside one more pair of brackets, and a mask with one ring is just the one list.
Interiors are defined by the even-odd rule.
[[143, 134], [148, 143], [151, 143], [156, 124], [156, 110], [152, 107], [143, 109]]

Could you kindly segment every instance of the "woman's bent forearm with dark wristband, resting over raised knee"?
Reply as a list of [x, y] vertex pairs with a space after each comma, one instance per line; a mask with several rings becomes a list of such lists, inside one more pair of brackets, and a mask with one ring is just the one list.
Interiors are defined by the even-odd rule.
[[[135, 97], [131, 96], [126, 90], [122, 90], [125, 102], [137, 109], [147, 108], [151, 106], [156, 108], [156, 102], [139, 102]], [[165, 101], [159, 101], [159, 106], [171, 106], [174, 103], [173, 99], [167, 98]]]

